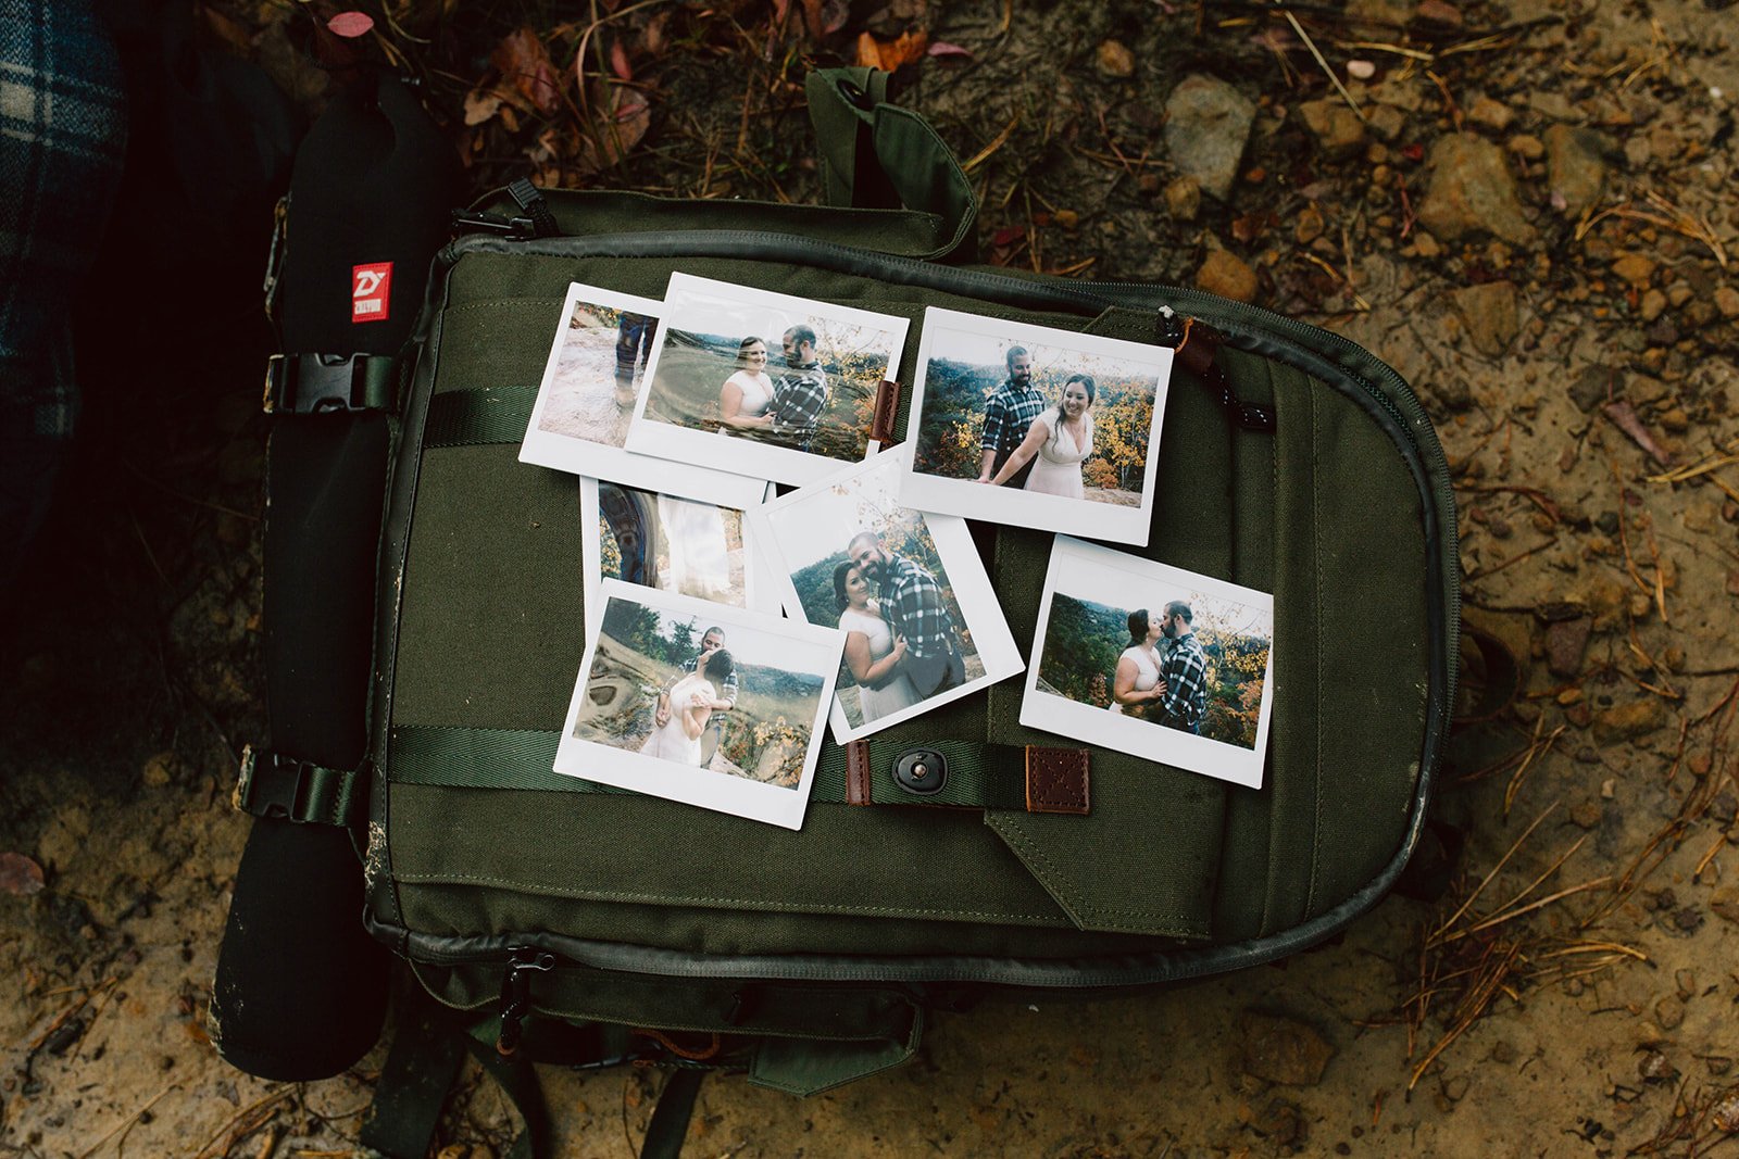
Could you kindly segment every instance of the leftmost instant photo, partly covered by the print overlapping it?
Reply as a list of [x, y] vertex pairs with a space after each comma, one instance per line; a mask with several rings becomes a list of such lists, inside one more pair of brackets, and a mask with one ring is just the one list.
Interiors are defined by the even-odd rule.
[[663, 313], [663, 302], [647, 297], [567, 287], [520, 462], [737, 509], [753, 506], [762, 492], [756, 480], [626, 450]]

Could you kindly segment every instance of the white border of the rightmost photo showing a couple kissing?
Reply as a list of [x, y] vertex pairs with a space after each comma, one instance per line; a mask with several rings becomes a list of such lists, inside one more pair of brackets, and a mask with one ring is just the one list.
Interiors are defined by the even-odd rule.
[[1108, 568], [1129, 572], [1143, 584], [1163, 584], [1219, 596], [1235, 603], [1266, 606], [1273, 615], [1275, 598], [1268, 593], [1228, 584], [1226, 580], [1186, 572], [1167, 563], [1143, 560], [1099, 544], [1087, 544], [1068, 535], [1057, 535], [1050, 549], [1050, 566], [1045, 572], [1045, 594], [1038, 605], [1038, 627], [1033, 632], [1033, 662], [1026, 669], [1026, 690], [1021, 695], [1021, 723], [1059, 733], [1075, 740], [1089, 740], [1106, 749], [1129, 752], [1149, 761], [1176, 765], [1203, 777], [1229, 780], [1247, 789], [1263, 787], [1263, 766], [1268, 759], [1268, 726], [1275, 707], [1275, 648], [1268, 646], [1268, 666], [1263, 669], [1263, 707], [1256, 725], [1256, 747], [1243, 749], [1224, 740], [1193, 737], [1165, 725], [1120, 716], [1096, 709], [1066, 697], [1038, 690], [1038, 669], [1043, 660], [1045, 634], [1050, 631], [1050, 601], [1057, 587], [1068, 591], [1069, 580], [1085, 573], [1103, 573]]

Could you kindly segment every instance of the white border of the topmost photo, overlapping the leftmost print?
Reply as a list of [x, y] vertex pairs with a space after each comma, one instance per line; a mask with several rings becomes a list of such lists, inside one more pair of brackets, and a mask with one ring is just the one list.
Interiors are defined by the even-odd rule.
[[[838, 471], [840, 464], [847, 460], [816, 455], [795, 447], [776, 447], [750, 438], [720, 436], [716, 431], [696, 431], [675, 422], [645, 417], [647, 398], [652, 393], [652, 381], [664, 353], [666, 325], [683, 328], [680, 318], [682, 299], [694, 294], [723, 295], [741, 299], [751, 306], [800, 313], [809, 318], [875, 327], [894, 335], [892, 349], [889, 351], [887, 377], [899, 374], [899, 360], [904, 356], [906, 335], [911, 328], [911, 323], [904, 318], [856, 309], [852, 306], [835, 306], [833, 302], [779, 294], [776, 290], [758, 290], [734, 281], [715, 281], [713, 278], [673, 273], [670, 287], [664, 290], [666, 318], [659, 325], [657, 342], [652, 346], [652, 356], [647, 360], [645, 386], [635, 400], [635, 417], [628, 424], [628, 450], [636, 455], [652, 455], [685, 466], [703, 464], [701, 469], [734, 471], [756, 480], [772, 480], [793, 487], [807, 487]], [[670, 315], [678, 316], [673, 318]], [[864, 443], [864, 459], [859, 462], [873, 459], [876, 450], [876, 441], [868, 440]]]

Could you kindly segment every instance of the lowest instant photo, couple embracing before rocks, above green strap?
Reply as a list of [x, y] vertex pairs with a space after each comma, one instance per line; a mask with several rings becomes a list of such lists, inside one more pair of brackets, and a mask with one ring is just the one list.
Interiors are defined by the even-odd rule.
[[803, 827], [842, 636], [603, 580], [555, 772]]

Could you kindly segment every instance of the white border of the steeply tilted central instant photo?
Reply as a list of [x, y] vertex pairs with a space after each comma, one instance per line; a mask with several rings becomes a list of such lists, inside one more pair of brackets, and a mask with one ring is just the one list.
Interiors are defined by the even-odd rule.
[[[873, 459], [852, 464], [836, 474], [817, 480], [810, 487], [795, 490], [781, 499], [769, 500], [762, 507], [755, 507], [748, 513], [748, 523], [755, 528], [755, 544], [763, 553], [767, 570], [772, 575], [772, 584], [776, 586], [779, 599], [784, 603], [786, 615], [793, 620], [807, 622], [807, 613], [803, 612], [803, 601], [796, 594], [796, 586], [791, 582], [790, 560], [786, 558], [784, 546], [779, 542], [779, 535], [772, 527], [772, 516], [783, 509], [800, 506], [807, 499], [814, 499], [826, 488], [856, 481], [871, 471], [904, 471], [906, 466], [909, 466], [909, 457], [911, 450], [904, 445], [883, 450]], [[897, 478], [892, 490], [896, 495], [899, 493]], [[943, 558], [943, 566], [948, 570], [948, 580], [955, 589], [955, 599], [960, 601], [960, 612], [970, 620], [960, 627], [972, 632], [972, 643], [977, 648], [979, 660], [984, 664], [984, 676], [967, 681], [958, 688], [949, 688], [948, 692], [925, 697], [911, 707], [878, 718], [873, 725], [864, 721], [856, 728], [849, 719], [845, 719], [845, 707], [835, 693], [833, 707], [828, 711], [828, 721], [833, 725], [833, 738], [838, 744], [861, 740], [889, 728], [890, 725], [899, 725], [916, 716], [923, 716], [925, 712], [958, 700], [960, 697], [1003, 681], [1026, 667], [1026, 662], [1021, 659], [1021, 648], [1014, 643], [1014, 632], [1009, 629], [1009, 620], [1002, 613], [1002, 601], [996, 599], [996, 589], [991, 586], [989, 573], [984, 570], [984, 561], [979, 558], [977, 547], [972, 544], [972, 532], [967, 528], [965, 520], [951, 514], [934, 514], [929, 511], [920, 511], [918, 514], [923, 518], [925, 527], [929, 527], [930, 539], [936, 542], [936, 551]]]

